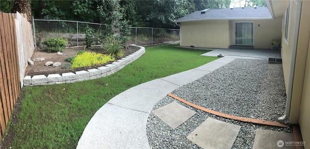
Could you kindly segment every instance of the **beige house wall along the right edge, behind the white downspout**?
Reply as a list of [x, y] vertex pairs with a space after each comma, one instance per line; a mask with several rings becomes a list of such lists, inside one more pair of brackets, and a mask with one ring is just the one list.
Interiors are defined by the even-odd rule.
[[[288, 92], [288, 75], [291, 56], [292, 46], [294, 38], [294, 27], [296, 26], [295, 15], [296, 8], [300, 4], [299, 0], [290, 0], [290, 13], [289, 13], [289, 40], [285, 39], [285, 18], [283, 18], [282, 24], [282, 66], [284, 73], [284, 80], [286, 86], [286, 92]], [[296, 47], [296, 60], [293, 77], [293, 89], [292, 89], [292, 100], [290, 109], [290, 123], [299, 123], [303, 141], [308, 142], [305, 145], [305, 149], [310, 149], [310, 1], [301, 1], [301, 14], [298, 34], [297, 47]]]

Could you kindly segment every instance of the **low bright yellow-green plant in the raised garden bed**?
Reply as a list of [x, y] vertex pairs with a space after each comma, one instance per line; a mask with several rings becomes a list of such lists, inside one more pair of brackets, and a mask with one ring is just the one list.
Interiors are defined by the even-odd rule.
[[77, 55], [77, 57], [72, 61], [71, 69], [102, 65], [109, 61], [115, 61], [115, 58], [111, 54], [84, 52]]

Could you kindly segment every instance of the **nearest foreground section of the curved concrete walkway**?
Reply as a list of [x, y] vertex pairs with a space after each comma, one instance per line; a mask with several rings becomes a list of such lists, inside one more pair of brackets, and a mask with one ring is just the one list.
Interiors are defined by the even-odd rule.
[[148, 116], [149, 113], [105, 104], [87, 124], [77, 149], [148, 149]]

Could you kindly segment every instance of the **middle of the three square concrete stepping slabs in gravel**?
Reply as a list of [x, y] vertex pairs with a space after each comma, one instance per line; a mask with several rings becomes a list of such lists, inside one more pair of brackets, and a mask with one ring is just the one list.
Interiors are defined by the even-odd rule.
[[203, 149], [231, 149], [240, 128], [209, 117], [186, 138]]

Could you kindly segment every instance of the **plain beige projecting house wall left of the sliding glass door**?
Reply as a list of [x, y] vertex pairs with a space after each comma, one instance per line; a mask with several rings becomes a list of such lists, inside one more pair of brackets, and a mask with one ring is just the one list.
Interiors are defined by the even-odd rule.
[[181, 46], [228, 48], [228, 20], [181, 22]]

